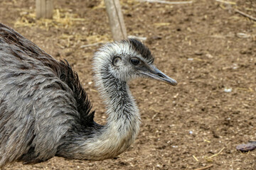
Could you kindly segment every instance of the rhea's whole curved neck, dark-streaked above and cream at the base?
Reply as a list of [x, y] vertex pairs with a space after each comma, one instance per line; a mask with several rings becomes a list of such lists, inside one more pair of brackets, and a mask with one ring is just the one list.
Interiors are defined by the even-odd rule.
[[[81, 137], [72, 145], [75, 159], [102, 160], [117, 157], [134, 142], [139, 132], [140, 116], [126, 81], [112, 75], [106, 65], [96, 68], [96, 84], [106, 104], [107, 124], [93, 129], [90, 137]], [[65, 156], [66, 157], [66, 156]]]

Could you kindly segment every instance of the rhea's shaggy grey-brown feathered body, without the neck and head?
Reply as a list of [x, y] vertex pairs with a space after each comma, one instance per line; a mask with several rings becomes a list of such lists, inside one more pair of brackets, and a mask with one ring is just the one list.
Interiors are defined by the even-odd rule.
[[90, 102], [68, 62], [2, 24], [0, 87], [0, 165], [50, 159], [68, 130], [93, 123]]

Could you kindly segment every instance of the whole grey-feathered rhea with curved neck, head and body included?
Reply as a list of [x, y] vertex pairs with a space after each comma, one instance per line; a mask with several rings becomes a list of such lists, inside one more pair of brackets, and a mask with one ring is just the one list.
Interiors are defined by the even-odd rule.
[[95, 83], [108, 115], [107, 124], [99, 125], [68, 62], [0, 24], [0, 167], [55, 156], [102, 160], [124, 152], [140, 124], [127, 83], [144, 77], [176, 85], [153, 62], [149, 49], [134, 39], [108, 43], [95, 53]]

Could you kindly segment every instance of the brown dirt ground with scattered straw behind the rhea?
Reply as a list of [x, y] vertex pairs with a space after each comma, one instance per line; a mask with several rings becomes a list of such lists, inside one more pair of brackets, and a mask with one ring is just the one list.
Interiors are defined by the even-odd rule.
[[[6, 169], [256, 169], [256, 151], [235, 149], [256, 140], [256, 22], [235, 9], [256, 17], [256, 1], [230, 1], [122, 0], [128, 34], [146, 38], [155, 64], [178, 86], [132, 81], [141, 130], [116, 159], [55, 157]], [[0, 22], [68, 60], [93, 103], [96, 121], [105, 123], [105, 106], [92, 83], [92, 55], [99, 45], [82, 46], [111, 40], [105, 6], [100, 0], [55, 0], [54, 5], [53, 20], [36, 21], [34, 0], [1, 0]]]

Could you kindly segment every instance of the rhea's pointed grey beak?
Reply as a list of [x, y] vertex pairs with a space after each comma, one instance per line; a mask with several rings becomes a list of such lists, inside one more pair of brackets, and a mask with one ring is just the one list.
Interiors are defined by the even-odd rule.
[[166, 84], [171, 84], [172, 86], [176, 86], [178, 84], [175, 79], [171, 79], [171, 77], [168, 77], [166, 74], [157, 69], [154, 65], [145, 64], [139, 70], [142, 74], [151, 79], [163, 81]]

